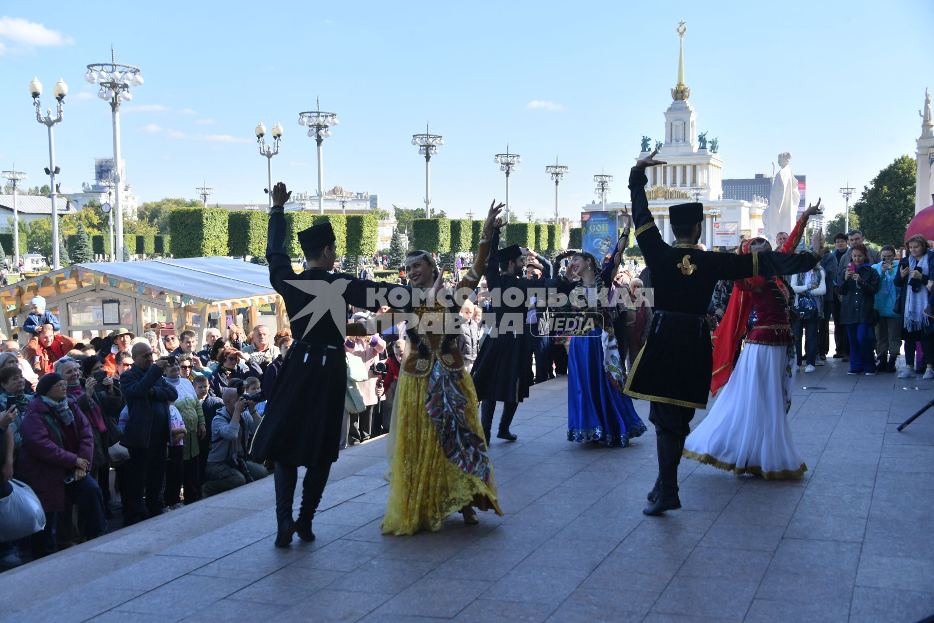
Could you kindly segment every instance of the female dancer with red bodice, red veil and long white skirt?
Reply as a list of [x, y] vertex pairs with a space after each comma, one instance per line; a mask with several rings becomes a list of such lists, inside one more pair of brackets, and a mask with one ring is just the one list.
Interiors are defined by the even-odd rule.
[[[798, 247], [808, 217], [820, 213], [820, 201], [808, 207], [780, 249]], [[771, 250], [763, 238], [743, 241], [741, 253]], [[687, 436], [684, 456], [733, 472], [763, 478], [794, 478], [807, 471], [786, 419], [795, 375], [795, 340], [788, 319], [794, 291], [781, 277], [736, 281], [727, 313], [714, 333], [711, 393], [722, 388], [710, 413]], [[756, 324], [733, 370], [752, 308]], [[729, 381], [729, 382], [728, 382]]]

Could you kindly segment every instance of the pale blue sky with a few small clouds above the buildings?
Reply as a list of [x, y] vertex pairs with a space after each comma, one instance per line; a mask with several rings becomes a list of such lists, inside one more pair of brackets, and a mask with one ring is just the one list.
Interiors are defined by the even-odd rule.
[[[33, 6], [35, 5], [35, 7]], [[686, 21], [686, 84], [699, 131], [720, 140], [724, 177], [771, 173], [794, 154], [808, 198], [842, 210], [838, 192], [862, 189], [886, 163], [914, 152], [917, 110], [934, 88], [927, 42], [934, 5], [886, 3], [178, 3], [153, 10], [86, 1], [0, 8], [0, 167], [16, 161], [31, 185], [48, 164], [45, 128], [27, 85], [70, 87], [55, 129], [63, 190], [91, 181], [93, 158], [112, 154], [109, 107], [92, 96], [85, 65], [139, 65], [146, 83], [121, 115], [128, 181], [143, 201], [195, 197], [265, 203], [265, 159], [253, 128], [285, 128], [274, 178], [316, 187], [315, 143], [297, 113], [321, 107], [341, 121], [324, 143], [324, 182], [380, 195], [382, 207], [421, 205], [424, 161], [410, 144], [445, 136], [432, 158], [432, 208], [478, 214], [504, 197], [494, 154], [522, 155], [513, 210], [551, 214], [545, 165], [571, 167], [565, 216], [594, 195], [601, 167], [611, 200], [642, 135], [662, 136]], [[274, 30], [273, 23], [281, 27]], [[42, 24], [39, 27], [37, 24]], [[119, 28], [123, 25], [123, 28]], [[109, 35], [102, 35], [108, 31]], [[531, 102], [553, 106], [529, 106]]]

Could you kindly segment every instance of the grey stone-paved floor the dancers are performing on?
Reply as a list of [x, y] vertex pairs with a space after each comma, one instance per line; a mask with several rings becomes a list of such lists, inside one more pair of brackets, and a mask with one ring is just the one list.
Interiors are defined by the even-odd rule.
[[[626, 448], [565, 441], [560, 378], [520, 406], [517, 443], [493, 442], [505, 517], [382, 536], [381, 439], [341, 453], [313, 544], [273, 547], [267, 478], [0, 574], [0, 616], [916, 621], [934, 614], [934, 409], [904, 432], [896, 426], [934, 399], [934, 383], [852, 377], [847, 367], [796, 380], [791, 424], [810, 468], [800, 481], [685, 460], [684, 508], [644, 517], [654, 432]], [[927, 390], [902, 389], [913, 386]], [[648, 404], [637, 407], [647, 421]]]

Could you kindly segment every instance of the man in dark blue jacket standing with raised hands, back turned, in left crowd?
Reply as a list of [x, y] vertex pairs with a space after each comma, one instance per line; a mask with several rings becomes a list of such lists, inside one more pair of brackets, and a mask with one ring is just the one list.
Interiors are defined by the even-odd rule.
[[[120, 375], [128, 420], [120, 444], [130, 451], [123, 474], [123, 525], [163, 512], [165, 446], [169, 442], [169, 405], [178, 392], [164, 378], [169, 362], [155, 360], [149, 344], [131, 350], [133, 367]], [[143, 503], [143, 495], [146, 503]]]

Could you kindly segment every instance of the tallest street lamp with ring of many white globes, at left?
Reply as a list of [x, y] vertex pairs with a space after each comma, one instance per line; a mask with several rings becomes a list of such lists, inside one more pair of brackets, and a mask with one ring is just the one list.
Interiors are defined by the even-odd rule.
[[110, 48], [110, 63], [92, 63], [88, 65], [88, 72], [84, 79], [100, 86], [97, 96], [110, 105], [112, 111], [112, 124], [114, 135], [114, 205], [117, 215], [116, 262], [123, 262], [123, 207], [122, 197], [126, 187], [126, 180], [120, 171], [120, 102], [129, 102], [133, 99], [130, 87], [143, 84], [143, 77], [139, 75], [139, 67], [132, 64], [117, 63], [114, 49]]

